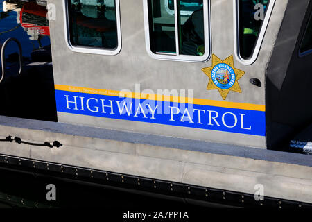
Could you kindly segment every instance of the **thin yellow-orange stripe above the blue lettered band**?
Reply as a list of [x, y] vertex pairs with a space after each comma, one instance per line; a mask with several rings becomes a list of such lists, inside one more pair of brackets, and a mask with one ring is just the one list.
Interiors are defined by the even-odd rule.
[[266, 110], [265, 105], [257, 105], [257, 104], [250, 104], [250, 103], [234, 103], [234, 102], [216, 101], [216, 100], [209, 100], [209, 99], [193, 99], [193, 98], [179, 97], [179, 96], [164, 96], [164, 95], [155, 95], [155, 94], [142, 94], [142, 93], [135, 93], [135, 92], [121, 92], [121, 91], [116, 91], [116, 90], [92, 89], [92, 88], [76, 87], [76, 86], [68, 86], [68, 85], [55, 85], [55, 90], [97, 94], [97, 95], [105, 95], [105, 96], [122, 96], [122, 97], [135, 98], [135, 99], [150, 99], [150, 100], [157, 100], [157, 101], [193, 103], [193, 104], [198, 104], [198, 105], [211, 105], [211, 106], [217, 106], [217, 107], [223, 107], [223, 108], [256, 110], [256, 111], [263, 111], [263, 112]]

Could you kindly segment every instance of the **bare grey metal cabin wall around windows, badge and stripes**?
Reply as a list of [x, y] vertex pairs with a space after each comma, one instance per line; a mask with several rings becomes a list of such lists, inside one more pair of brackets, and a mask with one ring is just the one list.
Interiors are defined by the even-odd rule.
[[[134, 91], [135, 83], [141, 90], [152, 89], [194, 89], [194, 97], [222, 101], [218, 90], [207, 90], [209, 78], [202, 68], [210, 67], [211, 60], [205, 63], [160, 61], [150, 58], [145, 49], [143, 4], [137, 0], [121, 0], [121, 33], [123, 48], [117, 56], [98, 56], [70, 51], [64, 41], [62, 2], [51, 0], [57, 6], [56, 21], [51, 21], [53, 70], [55, 84], [96, 89]], [[227, 3], [229, 2], [229, 3]], [[254, 64], [245, 66], [234, 60], [234, 66], [245, 71], [239, 80], [242, 93], [229, 92], [226, 101], [251, 104], [265, 104], [265, 89], [251, 85], [250, 78], [259, 78], [264, 83], [266, 65], [275, 44], [275, 38], [283, 19], [288, 1], [277, 1], [272, 12], [267, 33], [259, 57]], [[234, 55], [234, 25], [232, 1], [211, 0], [212, 53], [220, 59]], [[190, 130], [189, 128], [164, 126], [134, 121], [101, 119], [58, 113], [60, 122], [98, 126], [102, 128], [124, 129], [155, 135], [170, 135], [202, 139], [211, 142], [245, 144], [266, 147], [266, 138], [212, 130]], [[191, 131], [191, 132], [190, 132]], [[226, 138], [226, 139], [225, 139]]]

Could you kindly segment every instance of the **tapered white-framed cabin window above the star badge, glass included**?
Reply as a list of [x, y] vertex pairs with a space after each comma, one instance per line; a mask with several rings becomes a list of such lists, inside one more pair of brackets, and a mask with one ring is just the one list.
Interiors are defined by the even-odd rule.
[[252, 64], [259, 54], [275, 0], [236, 1], [236, 56]]

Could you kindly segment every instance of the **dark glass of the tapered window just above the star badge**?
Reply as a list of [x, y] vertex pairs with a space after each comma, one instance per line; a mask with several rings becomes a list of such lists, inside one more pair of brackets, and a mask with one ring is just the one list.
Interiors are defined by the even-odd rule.
[[[268, 0], [239, 0], [239, 52], [243, 59], [248, 59], [254, 52], [263, 19], [268, 8]], [[263, 6], [264, 17], [261, 19]]]

